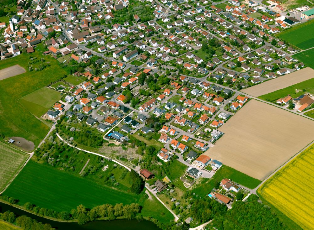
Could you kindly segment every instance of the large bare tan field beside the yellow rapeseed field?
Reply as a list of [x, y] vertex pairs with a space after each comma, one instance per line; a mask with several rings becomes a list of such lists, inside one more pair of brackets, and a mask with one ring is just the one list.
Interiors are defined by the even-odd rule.
[[225, 123], [205, 155], [263, 180], [314, 139], [314, 122], [251, 100]]

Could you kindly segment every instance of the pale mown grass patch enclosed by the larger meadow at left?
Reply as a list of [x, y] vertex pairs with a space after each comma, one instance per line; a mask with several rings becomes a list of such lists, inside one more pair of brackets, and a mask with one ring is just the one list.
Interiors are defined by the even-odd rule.
[[22, 97], [19, 103], [39, 118], [44, 115], [55, 102], [59, 101], [61, 97], [60, 92], [44, 87]]

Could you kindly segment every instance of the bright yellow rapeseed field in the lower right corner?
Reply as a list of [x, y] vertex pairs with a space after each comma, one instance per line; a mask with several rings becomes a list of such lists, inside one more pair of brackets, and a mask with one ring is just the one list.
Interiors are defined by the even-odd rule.
[[[282, 212], [284, 219], [291, 219], [303, 229], [313, 229], [313, 180], [314, 145], [284, 166], [257, 191], [263, 200]], [[280, 214], [279, 214], [280, 216]], [[286, 222], [289, 225], [289, 222]], [[294, 229], [298, 229], [296, 227]]]

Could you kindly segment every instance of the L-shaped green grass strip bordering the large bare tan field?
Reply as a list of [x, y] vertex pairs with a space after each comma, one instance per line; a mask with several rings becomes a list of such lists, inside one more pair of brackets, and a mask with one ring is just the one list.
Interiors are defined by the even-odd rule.
[[[207, 168], [211, 170], [211, 168]], [[203, 179], [204, 181], [200, 186], [194, 188], [192, 191], [203, 197], [206, 196], [213, 188], [216, 181], [221, 181], [224, 178], [235, 181], [236, 183], [246, 186], [250, 189], [257, 187], [262, 181], [241, 173], [227, 165], [223, 165], [211, 179]]]

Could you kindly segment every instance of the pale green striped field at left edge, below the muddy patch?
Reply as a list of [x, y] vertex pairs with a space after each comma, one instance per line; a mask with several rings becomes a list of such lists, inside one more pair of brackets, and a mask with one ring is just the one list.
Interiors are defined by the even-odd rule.
[[0, 142], [0, 191], [2, 191], [28, 158], [28, 154]]

